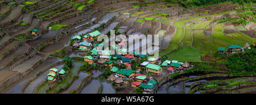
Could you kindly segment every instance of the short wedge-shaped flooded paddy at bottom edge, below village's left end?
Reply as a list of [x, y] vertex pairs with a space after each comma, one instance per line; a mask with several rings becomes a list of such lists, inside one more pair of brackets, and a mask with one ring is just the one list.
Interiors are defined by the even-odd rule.
[[92, 81], [82, 89], [81, 94], [96, 94], [100, 86], [101, 83], [98, 79], [92, 79]]

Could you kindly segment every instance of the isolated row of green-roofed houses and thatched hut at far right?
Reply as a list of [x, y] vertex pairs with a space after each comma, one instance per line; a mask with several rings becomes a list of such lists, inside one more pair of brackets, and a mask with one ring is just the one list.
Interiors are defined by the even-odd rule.
[[[228, 52], [229, 53], [244, 52], [245, 48], [250, 49], [250, 45], [248, 43], [243, 45], [243, 47], [241, 47], [239, 44], [228, 45]], [[219, 53], [224, 53], [225, 51], [226, 51], [225, 47], [218, 47], [218, 52]]]

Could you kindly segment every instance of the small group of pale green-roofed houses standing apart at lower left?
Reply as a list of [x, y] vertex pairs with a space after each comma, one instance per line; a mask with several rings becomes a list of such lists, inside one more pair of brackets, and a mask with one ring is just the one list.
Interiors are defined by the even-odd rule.
[[65, 73], [66, 72], [64, 69], [61, 69], [60, 72], [58, 72], [58, 70], [55, 68], [49, 69], [49, 73], [47, 74], [48, 75], [47, 81], [50, 83], [55, 83], [57, 79], [64, 77]]

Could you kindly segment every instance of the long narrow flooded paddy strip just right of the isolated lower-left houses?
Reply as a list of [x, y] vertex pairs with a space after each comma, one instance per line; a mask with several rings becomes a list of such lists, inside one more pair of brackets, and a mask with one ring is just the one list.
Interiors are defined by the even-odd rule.
[[85, 78], [87, 75], [89, 75], [88, 73], [84, 73], [84, 72], [80, 72], [79, 73], [79, 78], [76, 79], [72, 85], [68, 88], [68, 90], [64, 91], [64, 94], [68, 94], [69, 91], [73, 90], [73, 89], [77, 89], [77, 86], [79, 86], [79, 83], [82, 81], [83, 78]]

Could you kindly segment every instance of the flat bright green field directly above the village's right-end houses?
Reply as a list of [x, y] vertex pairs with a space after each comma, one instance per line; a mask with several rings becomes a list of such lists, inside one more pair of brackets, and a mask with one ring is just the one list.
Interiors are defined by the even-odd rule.
[[191, 47], [179, 46], [178, 50], [169, 54], [166, 54], [168, 60], [178, 61], [201, 61], [201, 54], [207, 53], [205, 51], [197, 51]]

